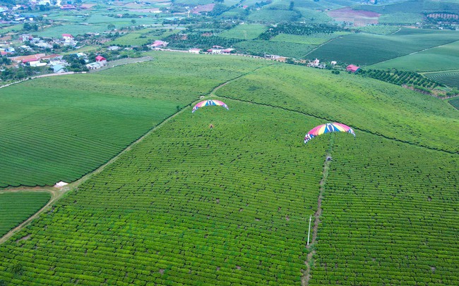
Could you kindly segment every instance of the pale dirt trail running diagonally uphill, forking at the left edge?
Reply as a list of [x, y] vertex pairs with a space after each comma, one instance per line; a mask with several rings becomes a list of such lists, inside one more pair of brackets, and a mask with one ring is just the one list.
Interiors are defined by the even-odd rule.
[[[275, 64], [277, 64], [277, 63], [271, 63], [268, 66], [275, 65]], [[237, 77], [234, 77], [234, 78], [232, 78], [230, 80], [227, 80], [226, 82], [223, 82], [221, 85], [218, 85], [217, 87], [212, 89], [212, 91], [209, 92], [207, 94], [207, 96], [208, 97], [215, 96], [214, 93], [217, 91], [217, 89], [220, 89], [221, 87], [227, 85], [229, 82], [232, 82], [233, 80], [237, 80], [239, 77], [243, 77], [244, 75], [249, 75], [250, 73], [254, 73], [256, 70], [258, 70], [260, 68], [264, 68], [264, 67], [266, 67], [266, 66], [260, 66], [258, 68], [255, 68], [254, 70], [249, 71], [248, 73], [243, 73], [242, 75], [238, 75]], [[196, 101], [198, 101], [198, 100], [196, 100]], [[69, 191], [71, 191], [73, 189], [78, 188], [79, 185], [81, 185], [83, 182], [85, 182], [88, 179], [90, 179], [91, 177], [93, 177], [93, 175], [96, 175], [96, 174], [102, 172], [102, 170], [104, 170], [107, 166], [109, 166], [110, 164], [114, 163], [114, 161], [117, 161], [117, 159], [121, 155], [123, 155], [126, 152], [130, 151], [132, 149], [132, 147], [134, 147], [136, 144], [138, 144], [141, 141], [143, 141], [143, 139], [145, 139], [145, 137], [147, 137], [151, 133], [155, 132], [155, 130], [161, 128], [162, 125], [165, 125], [166, 123], [168, 123], [170, 120], [172, 120], [172, 118], [174, 118], [174, 117], [178, 116], [179, 114], [183, 113], [184, 111], [188, 110], [187, 107], [193, 106], [193, 104], [195, 104], [196, 101], [193, 101], [191, 104], [188, 104], [188, 105], [184, 106], [184, 108], [181, 108], [181, 110], [177, 111], [176, 113], [172, 114], [172, 116], [169, 116], [168, 118], [163, 120], [162, 123], [156, 125], [152, 129], [148, 130], [148, 132], [146, 132], [144, 135], [142, 135], [142, 137], [138, 138], [135, 142], [129, 144], [128, 147], [126, 147], [125, 149], [120, 151], [116, 156], [114, 156], [109, 161], [107, 161], [107, 163], [103, 164], [102, 166], [100, 166], [99, 168], [93, 170], [92, 172], [90, 172], [90, 173], [88, 173], [86, 175], [83, 175], [83, 177], [81, 177], [80, 179], [76, 180], [75, 182], [71, 182], [70, 184], [68, 184], [68, 185], [66, 185], [64, 187], [50, 187], [50, 186], [46, 186], [46, 187], [25, 187], [25, 186], [20, 186], [20, 187], [6, 187], [5, 189], [0, 189], [0, 193], [2, 193], [2, 192], [49, 192], [49, 193], [52, 194], [51, 199], [48, 201], [48, 203], [46, 205], [44, 205], [42, 207], [42, 209], [37, 211], [33, 216], [30, 216], [30, 218], [28, 218], [27, 220], [24, 220], [23, 223], [20, 223], [20, 225], [18, 225], [16, 228], [13, 228], [9, 232], [7, 232], [3, 237], [0, 237], [0, 244], [6, 242], [6, 240], [8, 240], [8, 238], [13, 236], [16, 232], [19, 232], [20, 230], [22, 230], [32, 220], [34, 220], [35, 218], [40, 216], [41, 213], [43, 213], [44, 211], [47, 211], [47, 209], [49, 209], [56, 201], [61, 199], [61, 197], [63, 197], [64, 194], [66, 194], [67, 192], [69, 192]]]

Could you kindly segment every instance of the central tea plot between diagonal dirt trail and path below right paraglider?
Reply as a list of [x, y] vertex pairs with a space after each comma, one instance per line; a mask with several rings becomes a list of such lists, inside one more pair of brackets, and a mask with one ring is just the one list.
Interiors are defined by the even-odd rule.
[[1, 245], [0, 280], [299, 284], [328, 147], [304, 149], [302, 126], [319, 121], [225, 101], [188, 108]]

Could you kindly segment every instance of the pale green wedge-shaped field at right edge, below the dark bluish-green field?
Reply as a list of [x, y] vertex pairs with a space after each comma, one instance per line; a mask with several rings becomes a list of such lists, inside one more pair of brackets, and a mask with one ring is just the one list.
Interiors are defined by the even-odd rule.
[[369, 68], [410, 70], [427, 72], [437, 70], [455, 70], [459, 66], [459, 41], [443, 46], [436, 46], [426, 51], [400, 56], [382, 63], [376, 63]]

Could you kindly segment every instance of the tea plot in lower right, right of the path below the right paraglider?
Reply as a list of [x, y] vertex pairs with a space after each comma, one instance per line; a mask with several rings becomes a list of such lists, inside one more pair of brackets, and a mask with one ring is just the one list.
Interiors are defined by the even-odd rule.
[[309, 285], [458, 285], [458, 154], [360, 132], [332, 156]]

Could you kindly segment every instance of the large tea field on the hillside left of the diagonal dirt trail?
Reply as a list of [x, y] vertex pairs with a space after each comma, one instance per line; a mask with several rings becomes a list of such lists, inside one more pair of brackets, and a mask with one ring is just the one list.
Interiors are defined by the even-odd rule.
[[[155, 61], [94, 75], [48, 77], [2, 89], [0, 187], [76, 180], [177, 107], [268, 64], [225, 56], [207, 64], [191, 56], [183, 63], [181, 54], [153, 55]], [[237, 62], [242, 64], [234, 66]]]

